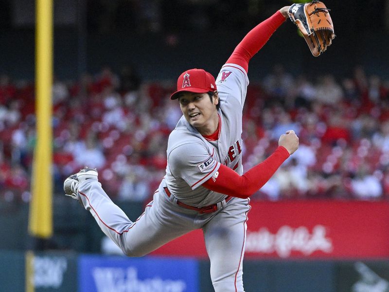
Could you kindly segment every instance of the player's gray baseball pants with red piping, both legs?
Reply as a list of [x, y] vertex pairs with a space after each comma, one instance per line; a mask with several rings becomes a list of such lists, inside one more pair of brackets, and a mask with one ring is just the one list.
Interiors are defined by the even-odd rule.
[[201, 228], [211, 261], [215, 292], [244, 292], [242, 265], [247, 214], [251, 208], [248, 199], [233, 198], [221, 210], [199, 214], [169, 201], [161, 183], [153, 201], [132, 222], [109, 199], [97, 180], [80, 183], [78, 191], [85, 208], [101, 230], [127, 256], [144, 256], [177, 237]]

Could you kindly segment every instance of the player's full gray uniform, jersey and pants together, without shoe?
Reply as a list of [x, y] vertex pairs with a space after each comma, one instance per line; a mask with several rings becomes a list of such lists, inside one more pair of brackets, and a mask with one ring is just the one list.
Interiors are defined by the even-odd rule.
[[[166, 176], [154, 193], [153, 201], [135, 222], [109, 199], [97, 180], [80, 183], [78, 192], [102, 231], [127, 256], [146, 255], [174, 238], [201, 228], [211, 261], [214, 290], [242, 292], [249, 200], [233, 198], [226, 202], [226, 195], [210, 191], [202, 183], [216, 177], [221, 164], [239, 174], [243, 172], [242, 108], [248, 77], [242, 67], [226, 64], [216, 85], [221, 123], [218, 140], [207, 141], [182, 117], [169, 137]], [[177, 200], [195, 207], [218, 203], [218, 208], [212, 213], [200, 214], [178, 205]]]

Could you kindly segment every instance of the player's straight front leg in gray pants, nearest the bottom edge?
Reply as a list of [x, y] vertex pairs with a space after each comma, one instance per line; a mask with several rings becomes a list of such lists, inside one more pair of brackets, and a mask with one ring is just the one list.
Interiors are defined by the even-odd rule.
[[203, 227], [215, 292], [243, 292], [248, 199], [235, 198]]

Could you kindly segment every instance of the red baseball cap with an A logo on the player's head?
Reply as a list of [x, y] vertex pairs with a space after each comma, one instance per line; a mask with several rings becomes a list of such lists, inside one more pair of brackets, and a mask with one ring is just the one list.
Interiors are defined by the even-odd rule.
[[203, 69], [191, 69], [184, 71], [177, 79], [177, 91], [170, 95], [170, 99], [177, 99], [179, 92], [189, 91], [205, 93], [215, 91], [215, 78]]

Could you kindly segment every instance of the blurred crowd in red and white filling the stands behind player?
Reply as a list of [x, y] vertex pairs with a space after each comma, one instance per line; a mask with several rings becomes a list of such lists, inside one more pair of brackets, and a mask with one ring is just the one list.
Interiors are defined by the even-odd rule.
[[[181, 116], [175, 81], [143, 82], [131, 66], [53, 83], [53, 180], [87, 165], [111, 198], [146, 202], [165, 174], [170, 131]], [[35, 135], [34, 84], [0, 76], [0, 198], [29, 201]], [[260, 163], [288, 129], [300, 148], [253, 200], [389, 198], [389, 81], [295, 76], [276, 65], [251, 81], [243, 164]]]

